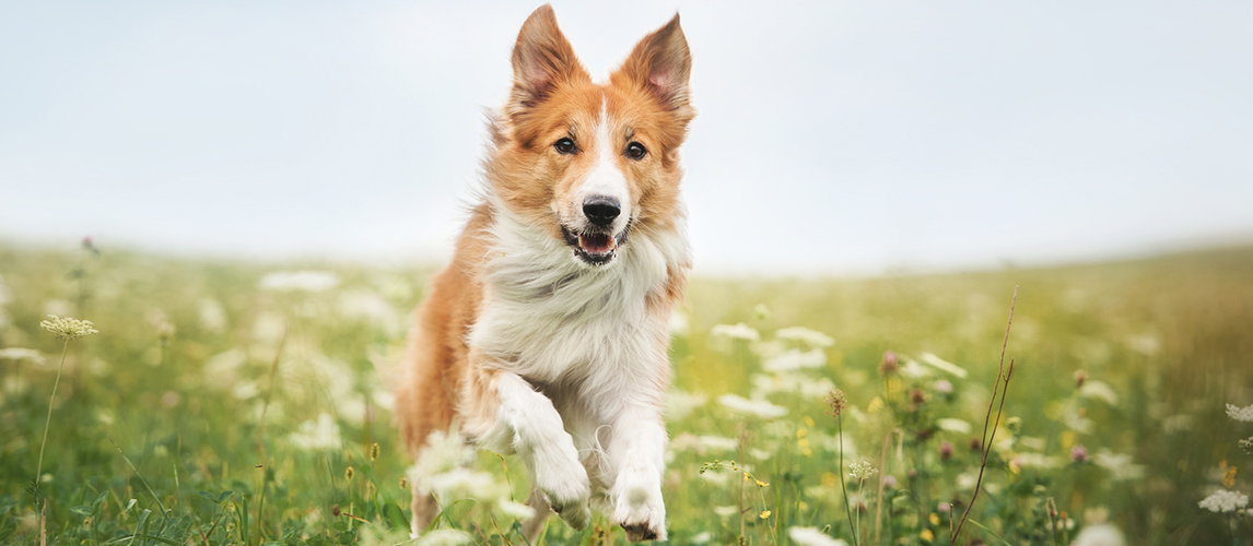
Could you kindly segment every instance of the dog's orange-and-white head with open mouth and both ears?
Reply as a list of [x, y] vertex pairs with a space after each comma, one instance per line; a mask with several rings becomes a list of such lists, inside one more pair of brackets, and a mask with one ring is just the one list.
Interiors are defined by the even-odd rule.
[[679, 18], [598, 84], [545, 5], [523, 25], [512, 64], [487, 164], [504, 204], [586, 265], [613, 263], [634, 229], [669, 227], [679, 214], [678, 149], [694, 115]]

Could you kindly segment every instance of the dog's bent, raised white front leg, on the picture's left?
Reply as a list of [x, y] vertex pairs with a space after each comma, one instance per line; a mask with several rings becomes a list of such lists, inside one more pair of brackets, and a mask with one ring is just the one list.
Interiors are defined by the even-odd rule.
[[553, 401], [515, 373], [491, 374], [495, 377], [489, 378], [485, 394], [495, 394], [500, 404], [484, 440], [511, 446], [526, 462], [531, 483], [548, 497], [553, 511], [570, 527], [586, 528], [591, 518], [588, 471]]

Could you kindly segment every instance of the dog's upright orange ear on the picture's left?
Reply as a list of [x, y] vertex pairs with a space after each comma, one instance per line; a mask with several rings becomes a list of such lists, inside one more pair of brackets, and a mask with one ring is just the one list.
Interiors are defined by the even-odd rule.
[[526, 18], [514, 45], [511, 106], [529, 108], [543, 101], [564, 80], [591, 76], [574, 56], [574, 48], [556, 26], [553, 6], [544, 4]]

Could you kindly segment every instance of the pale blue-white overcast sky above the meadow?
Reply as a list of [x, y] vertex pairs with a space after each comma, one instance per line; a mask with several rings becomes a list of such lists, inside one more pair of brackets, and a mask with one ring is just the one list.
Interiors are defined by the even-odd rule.
[[[0, 0], [0, 239], [446, 260], [536, 6]], [[1253, 242], [1253, 4], [554, 8], [596, 75], [680, 14], [699, 273]]]

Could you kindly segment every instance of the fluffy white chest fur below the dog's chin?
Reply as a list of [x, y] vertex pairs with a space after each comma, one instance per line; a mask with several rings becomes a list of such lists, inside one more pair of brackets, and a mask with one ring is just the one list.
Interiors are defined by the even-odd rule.
[[667, 317], [647, 299], [663, 291], [670, 268], [688, 262], [682, 232], [633, 232], [614, 263], [589, 267], [569, 247], [502, 207], [492, 225], [484, 307], [470, 347], [505, 369], [545, 383], [621, 376], [655, 364]]

